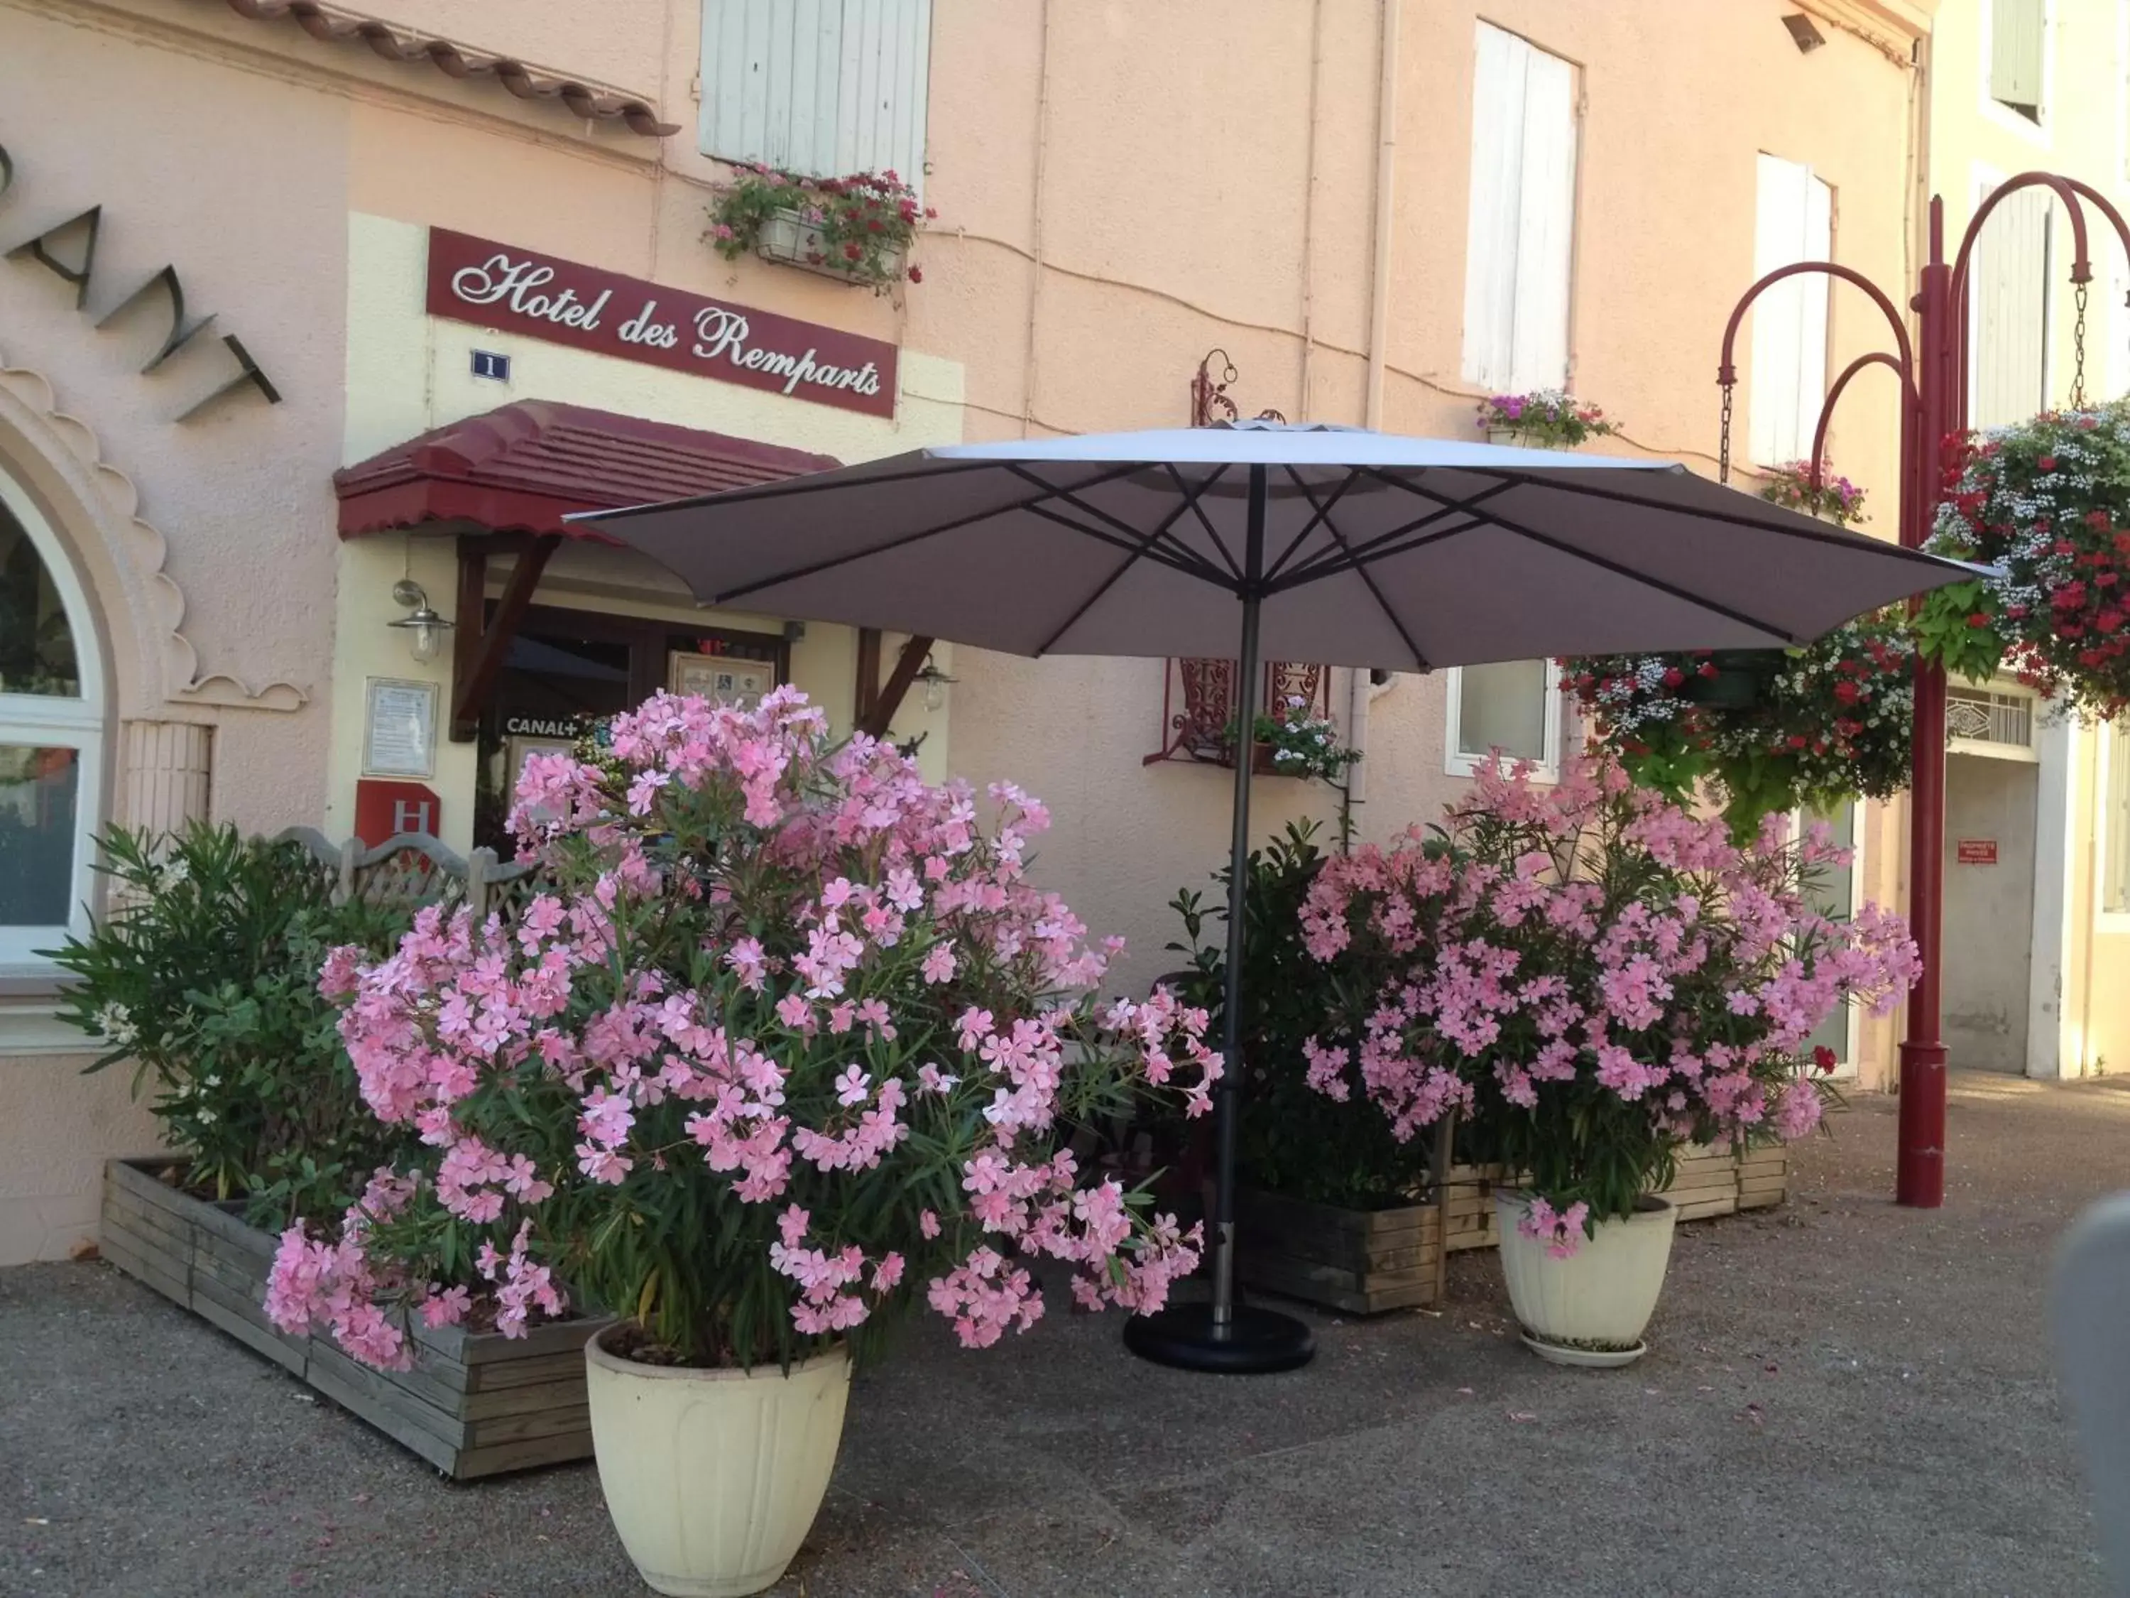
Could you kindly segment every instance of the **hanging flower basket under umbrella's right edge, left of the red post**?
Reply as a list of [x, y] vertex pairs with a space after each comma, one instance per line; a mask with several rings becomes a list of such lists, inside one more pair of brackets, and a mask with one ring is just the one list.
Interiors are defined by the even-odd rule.
[[1568, 688], [1644, 788], [1723, 788], [1740, 837], [1770, 812], [1885, 799], [1908, 782], [1915, 646], [1898, 612], [1802, 650], [1606, 654], [1561, 663]]

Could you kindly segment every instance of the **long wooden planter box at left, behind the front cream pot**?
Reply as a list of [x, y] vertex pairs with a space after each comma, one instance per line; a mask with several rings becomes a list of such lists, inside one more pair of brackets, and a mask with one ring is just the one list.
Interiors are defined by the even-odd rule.
[[592, 1455], [584, 1344], [607, 1321], [560, 1321], [524, 1338], [415, 1325], [413, 1370], [371, 1370], [332, 1338], [279, 1332], [262, 1308], [277, 1240], [245, 1225], [241, 1206], [170, 1187], [158, 1174], [168, 1168], [168, 1159], [104, 1163], [100, 1249], [128, 1276], [458, 1481]]

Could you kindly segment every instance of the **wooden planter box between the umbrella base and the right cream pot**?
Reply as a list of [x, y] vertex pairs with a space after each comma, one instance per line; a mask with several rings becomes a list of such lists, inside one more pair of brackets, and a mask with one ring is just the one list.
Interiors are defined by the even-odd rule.
[[1338, 1210], [1244, 1187], [1235, 1193], [1235, 1270], [1246, 1287], [1348, 1315], [1442, 1298], [1442, 1210]]

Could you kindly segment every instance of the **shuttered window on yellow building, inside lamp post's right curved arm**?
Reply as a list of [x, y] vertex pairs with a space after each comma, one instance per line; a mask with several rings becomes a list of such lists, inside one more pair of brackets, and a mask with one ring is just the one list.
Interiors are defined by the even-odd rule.
[[[1975, 187], [1977, 205], [1998, 179]], [[1979, 428], [2026, 422], [2049, 407], [2049, 192], [2004, 196], [1975, 239], [1968, 271], [1968, 420]]]

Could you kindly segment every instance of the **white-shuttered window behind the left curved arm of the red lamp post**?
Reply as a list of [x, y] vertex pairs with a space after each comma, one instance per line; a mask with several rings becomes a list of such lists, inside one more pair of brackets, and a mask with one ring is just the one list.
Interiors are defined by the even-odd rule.
[[[1753, 277], [1798, 260], [1834, 258], [1834, 190], [1810, 166], [1759, 158]], [[1804, 460], [1828, 390], [1828, 277], [1798, 273], [1753, 300], [1753, 460]]]

